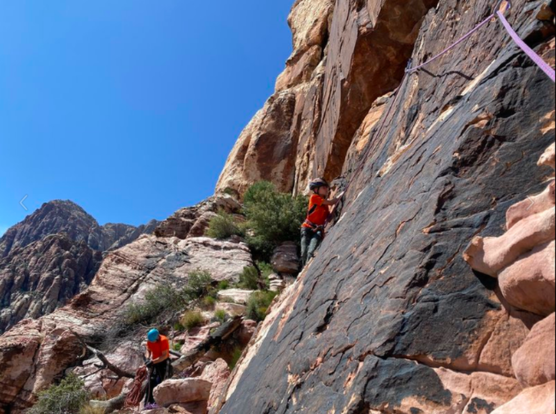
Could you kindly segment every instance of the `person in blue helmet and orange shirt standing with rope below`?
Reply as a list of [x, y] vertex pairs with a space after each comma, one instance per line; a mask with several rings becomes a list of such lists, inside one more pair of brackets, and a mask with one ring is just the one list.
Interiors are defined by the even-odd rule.
[[153, 404], [153, 390], [167, 377], [171, 376], [170, 342], [157, 329], [147, 333], [147, 354], [149, 360], [145, 365], [149, 368], [149, 383], [145, 393], [145, 405]]

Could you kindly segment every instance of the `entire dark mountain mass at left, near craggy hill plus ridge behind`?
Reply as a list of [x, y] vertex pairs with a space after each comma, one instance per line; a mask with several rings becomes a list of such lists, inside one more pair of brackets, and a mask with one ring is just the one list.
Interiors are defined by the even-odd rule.
[[67, 304], [92, 281], [102, 252], [152, 233], [141, 226], [105, 224], [72, 201], [45, 203], [0, 238], [0, 333], [24, 317]]

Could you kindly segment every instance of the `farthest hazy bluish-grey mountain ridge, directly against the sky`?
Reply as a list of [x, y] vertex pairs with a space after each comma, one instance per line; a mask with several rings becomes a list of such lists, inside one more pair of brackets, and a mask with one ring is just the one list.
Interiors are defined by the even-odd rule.
[[60, 233], [75, 242], [84, 241], [97, 251], [113, 250], [136, 240], [143, 233], [152, 233], [157, 225], [158, 222], [152, 220], [141, 226], [112, 223], [101, 226], [73, 201], [49, 201], [6, 231], [0, 238], [0, 258], [8, 256], [17, 247], [26, 247], [47, 235]]

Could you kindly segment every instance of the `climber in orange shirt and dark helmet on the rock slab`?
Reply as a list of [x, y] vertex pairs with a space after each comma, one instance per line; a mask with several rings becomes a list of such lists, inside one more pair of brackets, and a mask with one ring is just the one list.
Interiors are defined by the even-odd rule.
[[301, 226], [301, 260], [302, 265], [314, 256], [320, 242], [325, 237], [325, 224], [330, 214], [329, 206], [338, 204], [343, 193], [334, 199], [328, 199], [330, 185], [325, 179], [311, 181], [309, 189], [313, 194], [309, 198], [307, 218]]

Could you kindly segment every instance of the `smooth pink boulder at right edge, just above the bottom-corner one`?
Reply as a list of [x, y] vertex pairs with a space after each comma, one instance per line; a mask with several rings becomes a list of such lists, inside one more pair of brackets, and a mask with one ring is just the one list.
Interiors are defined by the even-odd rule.
[[516, 351], [512, 364], [516, 377], [523, 386], [540, 386], [556, 379], [555, 338], [553, 313], [533, 326], [523, 346]]

